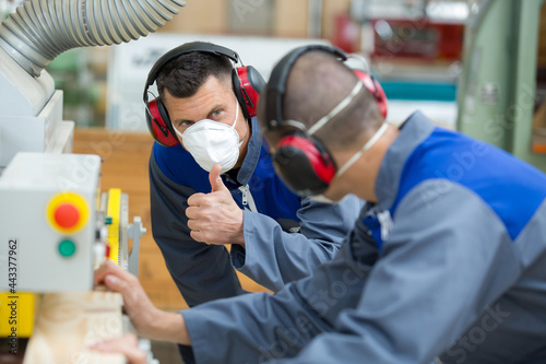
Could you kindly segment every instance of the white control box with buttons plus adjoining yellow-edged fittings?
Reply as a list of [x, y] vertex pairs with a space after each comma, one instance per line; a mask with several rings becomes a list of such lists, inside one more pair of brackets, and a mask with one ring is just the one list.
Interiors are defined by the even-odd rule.
[[0, 291], [91, 290], [105, 256], [136, 273], [140, 218], [129, 224], [121, 190], [98, 193], [99, 175], [97, 155], [15, 155], [0, 178]]

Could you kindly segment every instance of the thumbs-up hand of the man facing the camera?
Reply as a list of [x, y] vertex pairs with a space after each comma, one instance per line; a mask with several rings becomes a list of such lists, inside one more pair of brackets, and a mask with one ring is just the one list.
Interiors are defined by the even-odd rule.
[[209, 174], [210, 193], [194, 193], [188, 199], [188, 227], [190, 236], [206, 244], [239, 244], [245, 247], [242, 210], [219, 177], [219, 164]]

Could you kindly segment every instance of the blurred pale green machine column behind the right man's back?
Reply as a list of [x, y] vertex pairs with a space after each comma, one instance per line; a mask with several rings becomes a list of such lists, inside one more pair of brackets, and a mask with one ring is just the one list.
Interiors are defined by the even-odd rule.
[[458, 129], [546, 172], [546, 155], [532, 152], [543, 3], [471, 1]]

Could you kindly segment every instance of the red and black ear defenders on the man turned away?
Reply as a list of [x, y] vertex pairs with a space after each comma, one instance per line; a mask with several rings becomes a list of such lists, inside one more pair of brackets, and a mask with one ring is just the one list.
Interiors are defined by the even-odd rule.
[[329, 46], [311, 45], [296, 48], [283, 57], [273, 69], [264, 91], [266, 92], [266, 129], [270, 131], [281, 130], [285, 127], [292, 129], [277, 142], [273, 154], [273, 165], [284, 183], [302, 197], [324, 192], [337, 172], [334, 158], [328, 149], [312, 134], [345, 108], [360, 92], [363, 85], [376, 97], [380, 113], [383, 117], [387, 117], [387, 96], [379, 82], [365, 71], [354, 70], [355, 75], [361, 83], [357, 83], [345, 99], [309, 130], [297, 120], [286, 120], [283, 117], [283, 99], [286, 93], [288, 75], [298, 58], [313, 50], [332, 54], [341, 62], [346, 61], [348, 58], [342, 50]]

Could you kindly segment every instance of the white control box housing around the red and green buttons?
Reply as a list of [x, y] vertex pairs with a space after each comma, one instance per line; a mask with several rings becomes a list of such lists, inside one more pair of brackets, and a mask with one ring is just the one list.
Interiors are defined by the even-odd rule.
[[[100, 157], [84, 154], [19, 153], [0, 178], [0, 277], [16, 257], [16, 291], [63, 292], [93, 287]], [[48, 218], [51, 199], [76, 193], [86, 204], [87, 218], [73, 234], [56, 230]], [[16, 239], [15, 254], [10, 240]], [[63, 257], [59, 244], [69, 239], [75, 253]], [[11, 259], [13, 262], [13, 259]], [[13, 281], [11, 281], [13, 283]], [[0, 291], [10, 291], [8, 279]]]

